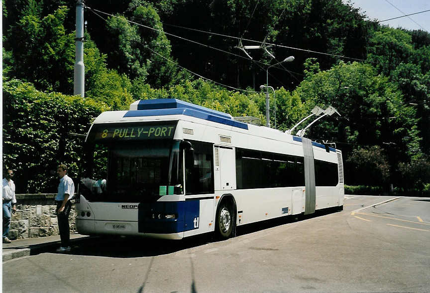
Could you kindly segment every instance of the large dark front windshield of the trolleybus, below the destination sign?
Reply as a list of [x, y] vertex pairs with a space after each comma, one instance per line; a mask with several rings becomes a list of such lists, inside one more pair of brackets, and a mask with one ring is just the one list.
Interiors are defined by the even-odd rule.
[[180, 141], [107, 142], [87, 146], [81, 194], [89, 201], [145, 202], [182, 193]]

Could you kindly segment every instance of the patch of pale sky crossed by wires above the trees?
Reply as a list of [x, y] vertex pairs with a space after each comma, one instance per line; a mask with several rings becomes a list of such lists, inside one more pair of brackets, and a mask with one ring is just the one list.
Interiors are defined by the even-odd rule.
[[[343, 0], [343, 2], [346, 2], [346, 0]], [[351, 4], [356, 8], [361, 8], [360, 12], [362, 14], [364, 12], [368, 18], [377, 18], [378, 20], [385, 20], [430, 9], [430, 0], [351, 0]], [[394, 6], [404, 13], [400, 12]], [[409, 17], [406, 16], [383, 21], [381, 24], [388, 24], [394, 28], [400, 26], [410, 30], [423, 29], [430, 32], [430, 11], [410, 15]]]

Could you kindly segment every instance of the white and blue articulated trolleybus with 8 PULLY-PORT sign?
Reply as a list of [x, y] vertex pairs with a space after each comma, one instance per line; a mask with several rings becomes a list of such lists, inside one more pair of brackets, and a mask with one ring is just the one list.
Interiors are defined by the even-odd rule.
[[182, 239], [343, 207], [340, 150], [176, 99], [102, 113], [86, 138], [81, 234]]

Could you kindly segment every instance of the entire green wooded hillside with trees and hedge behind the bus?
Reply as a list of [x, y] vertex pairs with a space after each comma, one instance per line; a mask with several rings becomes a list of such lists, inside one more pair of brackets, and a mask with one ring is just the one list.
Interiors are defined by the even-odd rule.
[[[324, 118], [307, 136], [342, 149], [352, 168], [346, 183], [396, 182], [405, 190], [430, 186], [430, 176], [421, 176], [427, 174], [430, 155], [428, 32], [366, 21], [342, 0], [93, 0], [92, 7], [116, 17], [85, 14], [83, 100], [67, 96], [73, 89], [74, 5], [71, 0], [3, 1], [3, 162], [17, 166], [18, 188], [49, 190], [55, 180], [48, 170], [59, 161], [76, 173], [81, 143], [66, 133], [85, 133], [101, 111], [125, 110], [137, 99], [177, 98], [232, 116], [255, 116], [264, 125], [265, 97], [257, 91], [266, 82], [266, 66], [254, 61], [274, 64], [289, 55], [296, 59], [285, 67], [294, 73], [279, 66], [269, 72], [276, 94], [275, 101], [270, 93], [272, 126], [275, 104], [282, 131], [315, 105], [332, 105], [342, 116]], [[237, 39], [170, 24], [243, 37], [244, 45], [255, 44], [246, 38], [266, 40], [367, 62], [344, 63], [279, 46], [268, 47], [279, 60], [263, 50], [250, 52], [250, 60], [235, 48]], [[195, 79], [174, 62], [250, 92]], [[375, 178], [355, 168], [370, 168]]]

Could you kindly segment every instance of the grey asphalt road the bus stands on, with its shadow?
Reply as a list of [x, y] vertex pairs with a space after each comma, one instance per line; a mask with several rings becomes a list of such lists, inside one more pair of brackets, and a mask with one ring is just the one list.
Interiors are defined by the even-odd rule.
[[345, 198], [226, 241], [100, 238], [11, 260], [3, 292], [430, 292], [430, 198]]

